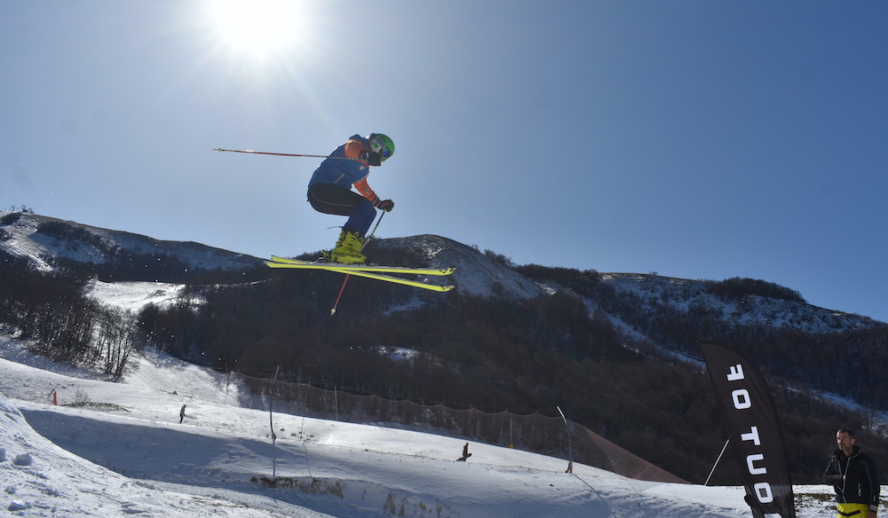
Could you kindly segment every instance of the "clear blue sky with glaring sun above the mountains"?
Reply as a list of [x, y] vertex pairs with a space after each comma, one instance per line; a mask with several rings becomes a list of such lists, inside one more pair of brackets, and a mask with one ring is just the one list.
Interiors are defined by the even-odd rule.
[[514, 263], [764, 279], [888, 321], [888, 4], [0, 2], [0, 208], [244, 254], [332, 247], [305, 201], [396, 152], [377, 237]]

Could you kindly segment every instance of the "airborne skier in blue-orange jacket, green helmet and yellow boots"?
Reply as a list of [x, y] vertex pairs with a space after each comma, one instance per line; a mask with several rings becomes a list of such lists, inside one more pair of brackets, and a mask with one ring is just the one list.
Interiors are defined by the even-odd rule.
[[[353, 135], [330, 153], [330, 157], [315, 169], [308, 183], [308, 201], [314, 210], [324, 214], [349, 216], [342, 227], [336, 247], [329, 260], [334, 263], [365, 263], [361, 254], [364, 236], [377, 217], [377, 208], [389, 212], [392, 200], [381, 200], [367, 184], [369, 166], [379, 166], [392, 157], [394, 143], [382, 133], [369, 137]], [[357, 160], [343, 160], [357, 159]], [[358, 192], [352, 191], [352, 185]], [[360, 192], [360, 194], [359, 194]]]

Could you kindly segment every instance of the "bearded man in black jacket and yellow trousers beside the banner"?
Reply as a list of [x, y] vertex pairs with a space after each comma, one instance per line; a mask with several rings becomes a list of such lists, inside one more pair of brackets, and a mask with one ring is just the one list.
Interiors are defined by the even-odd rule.
[[838, 449], [829, 456], [823, 483], [836, 490], [836, 516], [876, 518], [879, 508], [879, 475], [876, 461], [856, 444], [848, 428], [836, 432]]

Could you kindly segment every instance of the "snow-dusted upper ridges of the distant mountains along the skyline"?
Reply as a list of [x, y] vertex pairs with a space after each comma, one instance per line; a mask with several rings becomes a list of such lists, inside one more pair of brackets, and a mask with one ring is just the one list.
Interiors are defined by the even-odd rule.
[[[474, 247], [440, 236], [377, 239], [374, 246], [384, 250], [409, 250], [423, 263], [422, 266], [456, 267], [456, 272], [448, 278], [430, 281], [453, 283], [462, 294], [521, 299], [566, 289], [559, 286], [557, 281], [535, 282]], [[196, 271], [236, 271], [262, 264], [262, 259], [257, 257], [190, 241], [163, 241], [47, 216], [4, 214], [3, 211], [0, 211], [0, 249], [27, 258], [40, 270], [52, 269], [51, 264], [58, 258], [106, 263], [114, 257], [125, 255], [124, 251], [174, 256]], [[804, 302], [757, 295], [749, 295], [739, 301], [725, 300], [713, 294], [708, 284], [701, 280], [674, 279], [654, 274], [601, 273], [598, 282], [638, 307], [685, 314], [703, 307], [710, 314], [717, 314], [718, 318], [734, 325], [789, 326], [817, 334], [876, 325], [876, 320], [871, 318], [827, 310]], [[587, 302], [591, 312], [599, 309], [598, 302]], [[611, 313], [608, 318], [629, 334], [637, 331], [619, 315]]]

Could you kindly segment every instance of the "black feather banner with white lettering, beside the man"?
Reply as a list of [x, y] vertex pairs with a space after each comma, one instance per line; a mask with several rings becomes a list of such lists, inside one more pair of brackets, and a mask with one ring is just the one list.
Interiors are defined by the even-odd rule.
[[795, 518], [786, 443], [771, 391], [755, 365], [724, 346], [701, 343], [725, 428], [756, 518]]

